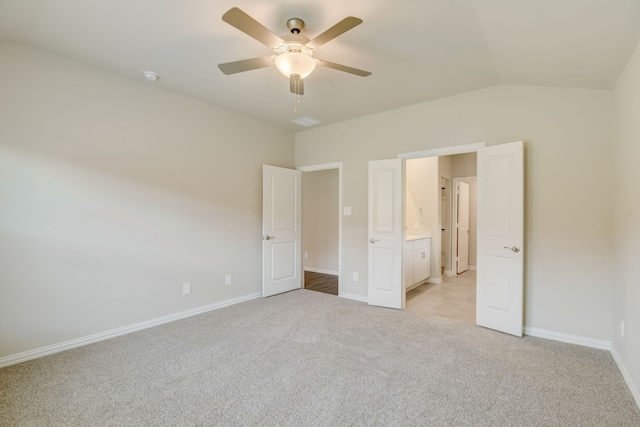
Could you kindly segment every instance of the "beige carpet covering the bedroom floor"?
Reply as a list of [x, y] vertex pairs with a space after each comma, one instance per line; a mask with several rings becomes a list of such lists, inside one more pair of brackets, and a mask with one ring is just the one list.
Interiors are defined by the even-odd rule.
[[2, 426], [640, 426], [611, 355], [299, 290], [0, 369]]

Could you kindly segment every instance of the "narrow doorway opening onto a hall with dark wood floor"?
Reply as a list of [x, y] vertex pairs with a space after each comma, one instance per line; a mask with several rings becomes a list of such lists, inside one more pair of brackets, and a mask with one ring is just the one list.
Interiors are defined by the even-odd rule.
[[340, 295], [341, 163], [302, 171], [303, 288]]

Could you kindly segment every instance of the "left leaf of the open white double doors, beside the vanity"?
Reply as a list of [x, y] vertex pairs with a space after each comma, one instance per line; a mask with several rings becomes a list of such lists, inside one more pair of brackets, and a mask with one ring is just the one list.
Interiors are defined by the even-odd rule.
[[369, 305], [403, 308], [402, 160], [369, 162]]

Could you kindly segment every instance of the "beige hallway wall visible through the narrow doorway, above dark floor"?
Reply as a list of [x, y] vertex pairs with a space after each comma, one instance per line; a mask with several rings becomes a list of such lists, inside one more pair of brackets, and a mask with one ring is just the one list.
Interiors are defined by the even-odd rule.
[[[338, 273], [338, 169], [302, 174], [302, 246], [305, 269]], [[322, 271], [321, 271], [322, 272]]]

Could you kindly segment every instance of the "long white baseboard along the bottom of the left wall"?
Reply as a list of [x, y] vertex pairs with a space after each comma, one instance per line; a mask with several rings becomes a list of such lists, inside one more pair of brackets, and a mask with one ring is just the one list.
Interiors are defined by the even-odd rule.
[[99, 332], [97, 334], [88, 335], [82, 338], [76, 338], [69, 341], [64, 341], [57, 344], [48, 345], [46, 347], [36, 348], [34, 350], [25, 351], [10, 356], [0, 358], [0, 368], [5, 366], [15, 365], [17, 363], [26, 362], [27, 360], [37, 359], [39, 357], [48, 356], [50, 354], [59, 353], [65, 350], [71, 350], [72, 348], [81, 347], [87, 344], [93, 344], [98, 341], [108, 340], [109, 338], [115, 338], [121, 335], [130, 334], [132, 332], [141, 331], [143, 329], [152, 328], [154, 326], [162, 325], [163, 323], [173, 322], [175, 320], [184, 319], [198, 314], [206, 313], [208, 311], [217, 310], [219, 308], [228, 307], [230, 305], [239, 304], [241, 302], [250, 301], [252, 299], [262, 297], [262, 293], [254, 293], [245, 295], [238, 298], [232, 298], [225, 301], [208, 304], [202, 307], [192, 308], [190, 310], [180, 311], [178, 313], [169, 314], [162, 317], [156, 317], [155, 319], [145, 320], [144, 322], [134, 323], [132, 325], [123, 326], [121, 328], [111, 329], [105, 332]]

